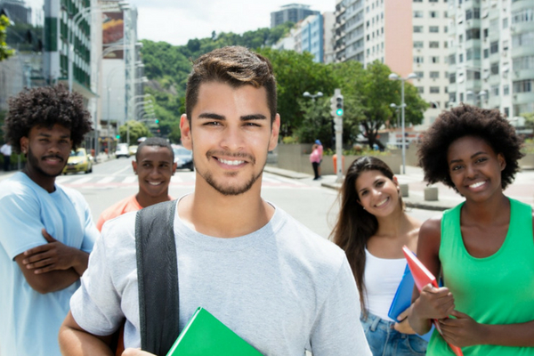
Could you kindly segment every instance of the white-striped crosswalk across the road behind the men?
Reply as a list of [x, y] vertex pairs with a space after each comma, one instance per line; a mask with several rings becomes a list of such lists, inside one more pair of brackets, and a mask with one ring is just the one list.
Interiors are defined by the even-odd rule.
[[[171, 177], [171, 186], [193, 186], [194, 172], [177, 172]], [[130, 188], [137, 185], [137, 175], [134, 174], [69, 174], [56, 178], [56, 182], [76, 189], [109, 189]], [[303, 189], [317, 188], [307, 182], [281, 177], [274, 174], [263, 174], [263, 188]]]

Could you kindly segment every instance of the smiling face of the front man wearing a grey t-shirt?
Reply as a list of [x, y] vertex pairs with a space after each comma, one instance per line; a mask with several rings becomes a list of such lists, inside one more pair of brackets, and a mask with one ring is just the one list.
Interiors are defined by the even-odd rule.
[[193, 151], [198, 176], [223, 195], [259, 191], [280, 125], [278, 114], [271, 125], [265, 88], [202, 84], [191, 116], [182, 115], [182, 144]]

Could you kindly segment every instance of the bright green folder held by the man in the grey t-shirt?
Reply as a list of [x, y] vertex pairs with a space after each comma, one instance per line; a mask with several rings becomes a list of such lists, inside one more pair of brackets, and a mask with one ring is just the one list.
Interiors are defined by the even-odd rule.
[[261, 356], [206, 309], [198, 307], [166, 356]]

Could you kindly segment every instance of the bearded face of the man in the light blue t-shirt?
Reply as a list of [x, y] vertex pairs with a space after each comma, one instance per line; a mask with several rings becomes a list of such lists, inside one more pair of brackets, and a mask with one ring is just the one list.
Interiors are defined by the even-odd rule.
[[34, 126], [28, 137], [20, 139], [20, 149], [28, 155], [28, 171], [43, 177], [61, 174], [71, 148], [70, 130], [58, 124], [52, 128]]

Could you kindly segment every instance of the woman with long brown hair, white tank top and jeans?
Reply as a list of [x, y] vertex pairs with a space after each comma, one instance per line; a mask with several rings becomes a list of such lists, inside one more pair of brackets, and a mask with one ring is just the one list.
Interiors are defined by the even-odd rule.
[[360, 291], [361, 323], [374, 356], [425, 354], [408, 312], [388, 316], [406, 269], [402, 246], [417, 248], [421, 222], [406, 214], [401, 187], [384, 161], [361, 157], [352, 162], [340, 190], [341, 207], [330, 237], [344, 249]]

